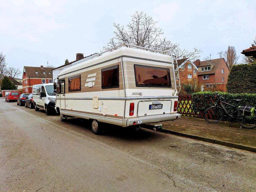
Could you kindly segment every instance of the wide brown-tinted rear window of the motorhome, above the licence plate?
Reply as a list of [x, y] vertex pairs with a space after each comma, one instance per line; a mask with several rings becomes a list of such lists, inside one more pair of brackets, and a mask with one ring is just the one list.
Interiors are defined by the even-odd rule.
[[171, 87], [170, 69], [134, 65], [137, 87]]

